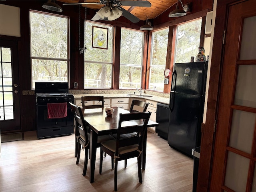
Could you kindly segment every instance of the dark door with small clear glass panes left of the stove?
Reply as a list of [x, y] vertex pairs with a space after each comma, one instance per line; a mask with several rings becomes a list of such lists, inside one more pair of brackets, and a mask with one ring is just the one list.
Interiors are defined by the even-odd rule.
[[0, 130], [20, 131], [18, 45], [1, 40], [0, 47]]

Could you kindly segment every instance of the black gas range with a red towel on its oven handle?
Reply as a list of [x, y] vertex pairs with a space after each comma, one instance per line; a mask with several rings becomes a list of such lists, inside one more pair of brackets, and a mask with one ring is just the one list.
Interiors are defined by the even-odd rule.
[[68, 83], [35, 82], [35, 92], [38, 138], [73, 134], [74, 118], [69, 102], [74, 103], [74, 96], [68, 93]]

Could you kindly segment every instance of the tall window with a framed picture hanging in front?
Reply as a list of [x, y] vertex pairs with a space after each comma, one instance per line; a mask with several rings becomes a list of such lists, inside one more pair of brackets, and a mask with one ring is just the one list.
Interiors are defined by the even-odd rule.
[[[107, 28], [108, 35], [106, 34], [107, 30], [94, 30], [94, 34], [92, 34], [92, 26], [99, 27], [97, 29]], [[84, 46], [87, 48], [84, 53], [84, 88], [111, 88], [113, 27], [86, 21], [84, 28]], [[94, 47], [98, 46], [99, 48], [92, 47], [92, 36], [94, 37]], [[102, 40], [108, 43], [107, 49], [100, 48]]]

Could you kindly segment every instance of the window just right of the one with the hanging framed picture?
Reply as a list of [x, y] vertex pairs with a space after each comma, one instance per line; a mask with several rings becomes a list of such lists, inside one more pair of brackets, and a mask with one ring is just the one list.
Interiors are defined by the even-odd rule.
[[144, 32], [121, 30], [119, 88], [140, 88]]

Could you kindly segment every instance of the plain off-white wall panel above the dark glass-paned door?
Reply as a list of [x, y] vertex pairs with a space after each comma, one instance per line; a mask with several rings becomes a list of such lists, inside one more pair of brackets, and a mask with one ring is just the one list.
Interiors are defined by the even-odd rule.
[[20, 8], [0, 4], [0, 34], [20, 37]]

